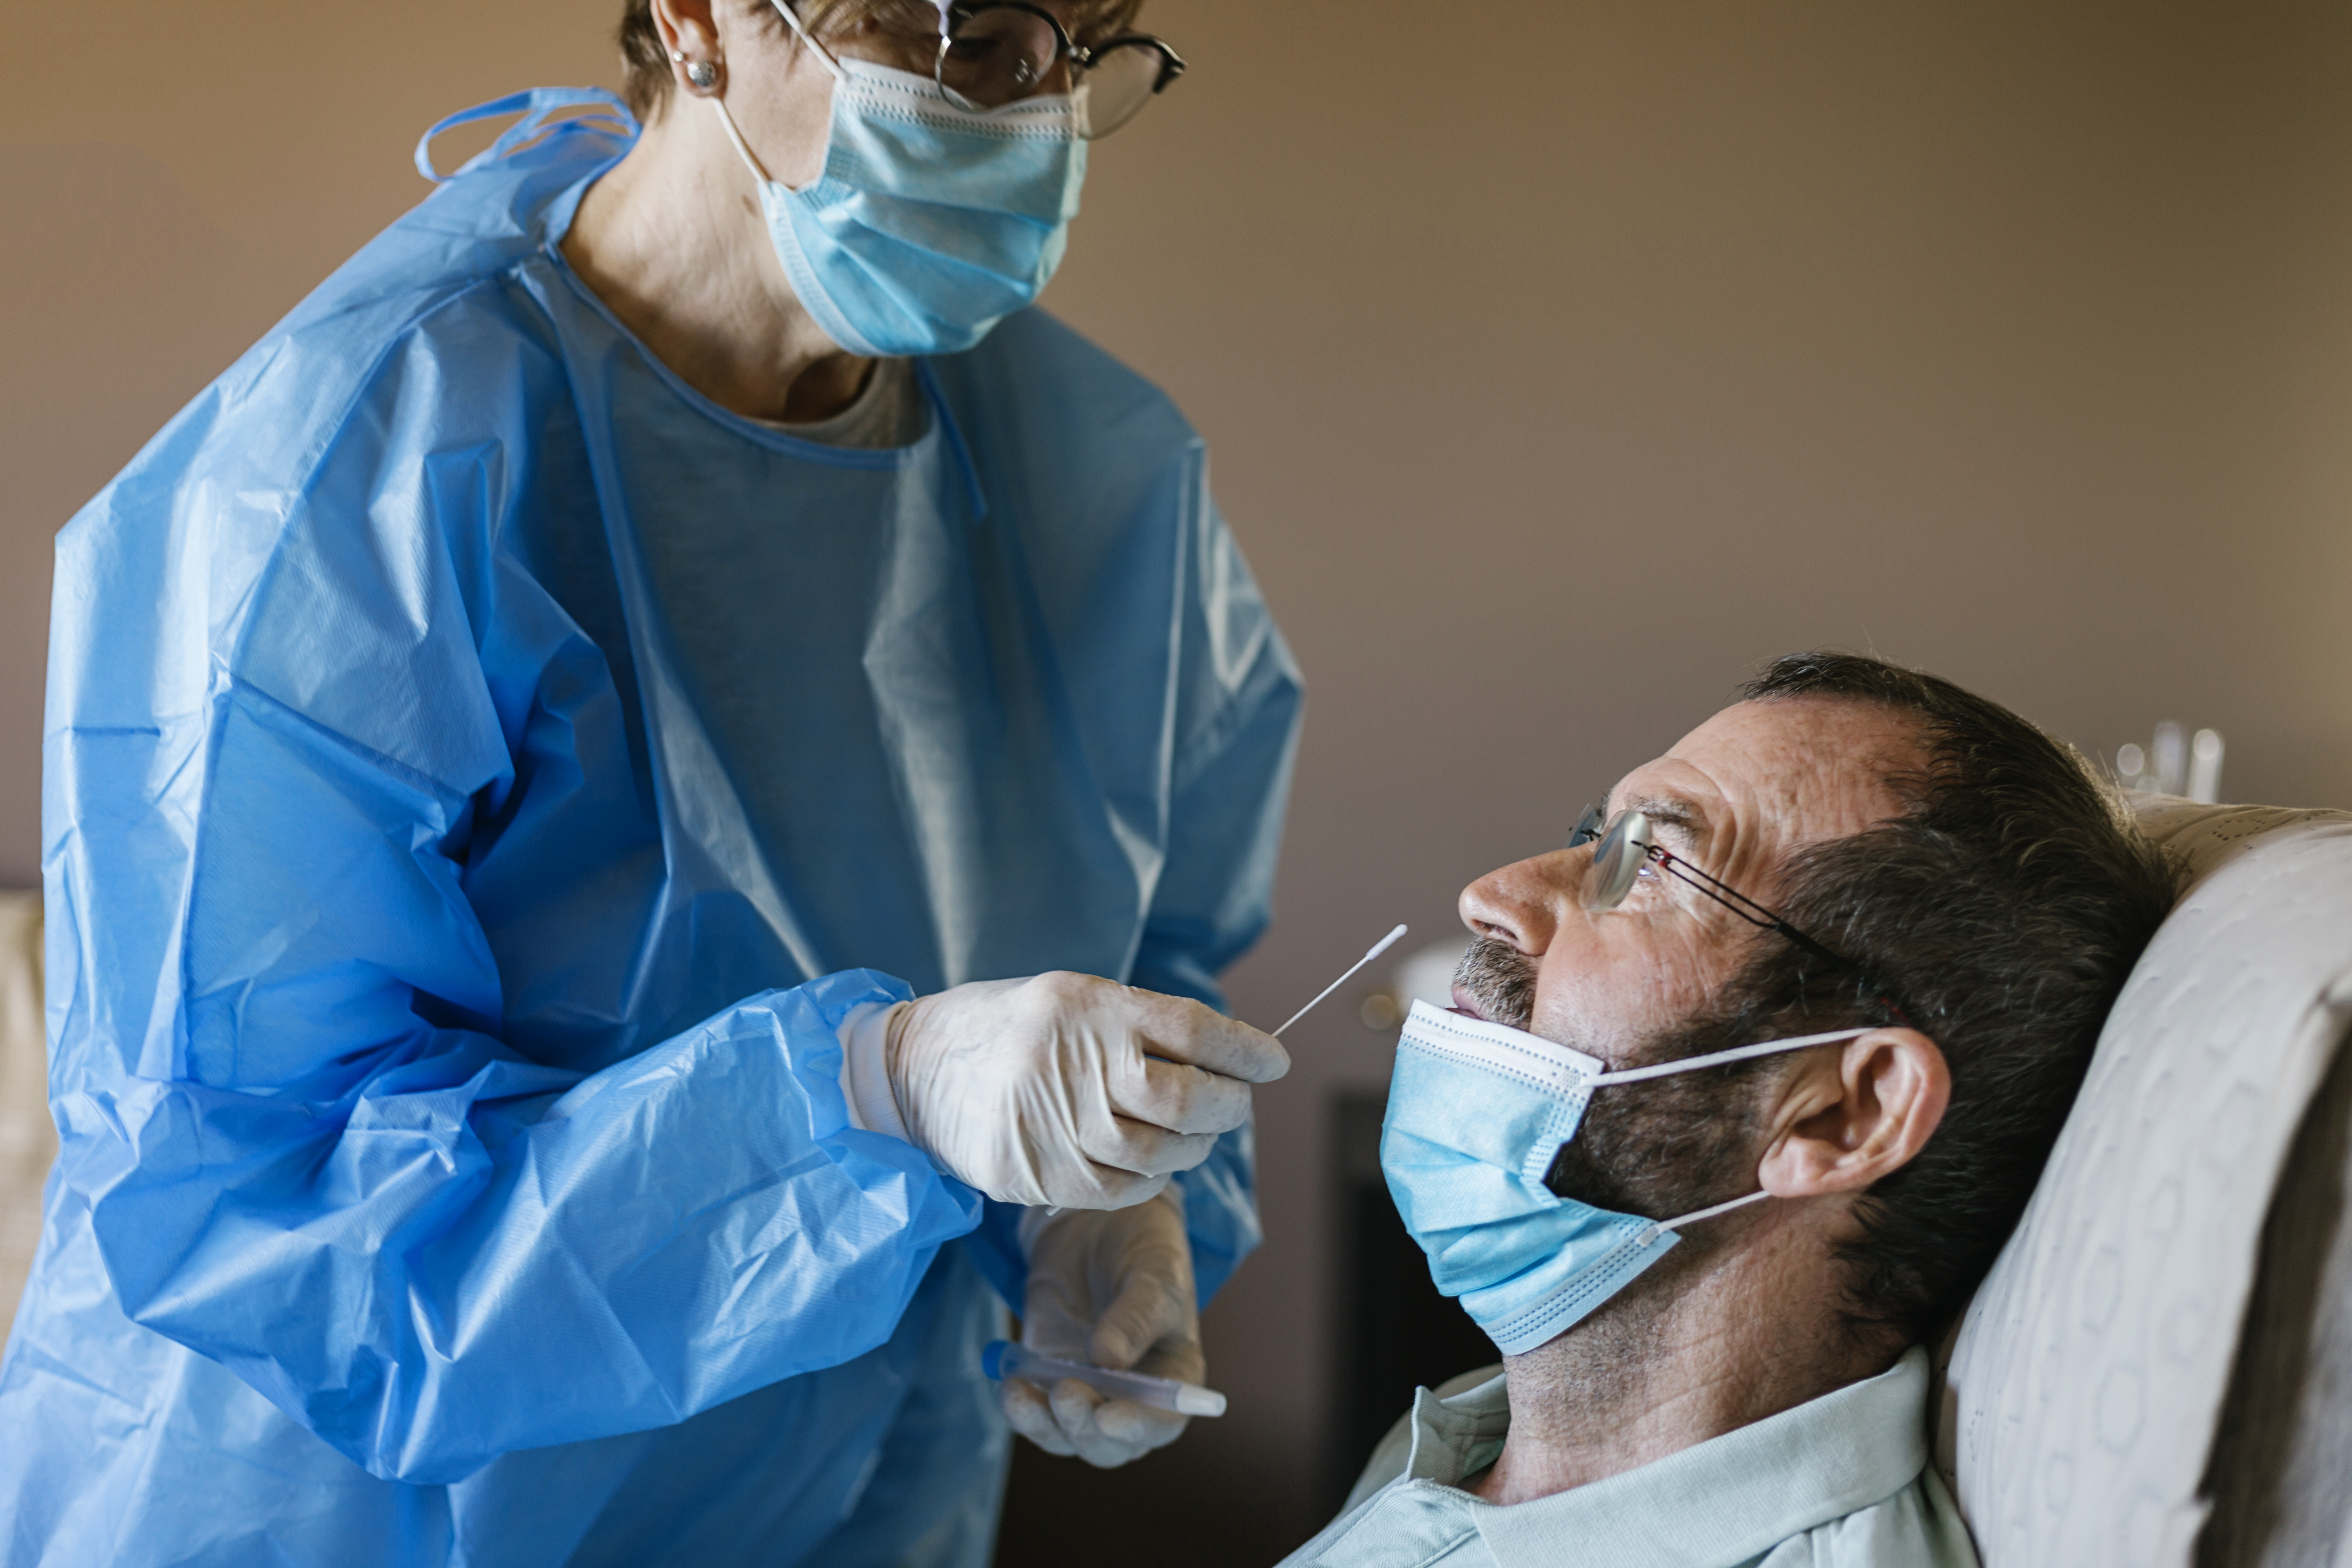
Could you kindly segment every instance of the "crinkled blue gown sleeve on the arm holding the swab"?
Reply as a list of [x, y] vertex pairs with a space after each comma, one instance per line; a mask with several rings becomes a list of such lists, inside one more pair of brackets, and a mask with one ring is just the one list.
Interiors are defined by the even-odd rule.
[[499, 451], [390, 456], [294, 496], [181, 456], [61, 538], [52, 1105], [134, 1321], [447, 1483], [863, 1354], [981, 1199], [849, 1126], [835, 1030], [908, 994], [880, 973], [586, 1074], [501, 1041], [463, 891], [513, 788], [492, 686], [529, 686], [468, 510]]

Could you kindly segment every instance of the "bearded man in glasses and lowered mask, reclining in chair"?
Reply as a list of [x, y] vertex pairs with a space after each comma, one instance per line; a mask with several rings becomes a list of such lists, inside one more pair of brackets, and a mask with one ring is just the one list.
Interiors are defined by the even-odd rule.
[[1743, 698], [1463, 893], [1381, 1164], [1503, 1366], [1423, 1389], [1291, 1563], [1976, 1561], [1924, 1345], [2176, 879], [1950, 682], [1802, 654]]

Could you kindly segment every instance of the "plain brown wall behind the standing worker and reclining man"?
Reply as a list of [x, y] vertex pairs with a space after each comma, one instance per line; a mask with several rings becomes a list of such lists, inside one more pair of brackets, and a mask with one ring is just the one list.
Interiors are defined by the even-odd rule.
[[[607, 9], [14, 21], [0, 884], [38, 877], [54, 529], [421, 195], [428, 120], [609, 82]], [[1392, 919], [1442, 931], [1461, 882], [1795, 646], [1922, 663], [2096, 750], [2216, 724], [2227, 795], [2352, 804], [2343, 5], [1150, 16], [1195, 71], [1098, 150], [1049, 303], [1209, 435], [1312, 682], [1242, 1016]], [[1211, 1314], [1232, 1415], [1108, 1481], [1030, 1462], [1025, 1500], [1122, 1509], [1157, 1542], [1136, 1561], [1263, 1561], [1310, 1528], [1345, 1309], [1322, 1114], [1383, 1077], [1331, 1006], [1261, 1095], [1270, 1246]]]

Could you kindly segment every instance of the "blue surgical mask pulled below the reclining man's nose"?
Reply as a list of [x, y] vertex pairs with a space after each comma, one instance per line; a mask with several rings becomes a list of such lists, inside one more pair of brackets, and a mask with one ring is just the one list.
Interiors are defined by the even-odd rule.
[[1672, 1251], [1677, 1229], [1766, 1192], [1672, 1220], [1595, 1208], [1543, 1185], [1595, 1088], [1698, 1072], [1750, 1056], [1853, 1039], [1839, 1030], [1609, 1072], [1604, 1063], [1501, 1023], [1416, 1001], [1397, 1041], [1381, 1124], [1381, 1171], [1444, 1295], [1505, 1356], [1573, 1328]]

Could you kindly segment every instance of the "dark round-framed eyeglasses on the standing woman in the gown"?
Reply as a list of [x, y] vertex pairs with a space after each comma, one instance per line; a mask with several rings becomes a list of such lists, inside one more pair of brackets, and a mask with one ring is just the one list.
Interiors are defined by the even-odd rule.
[[1025, 0], [955, 0], [938, 14], [931, 75], [962, 108], [1002, 108], [1037, 92], [1056, 61], [1087, 87], [1082, 136], [1108, 136], [1183, 75], [1183, 56], [1150, 33], [1098, 45], [1070, 38], [1054, 12]]

